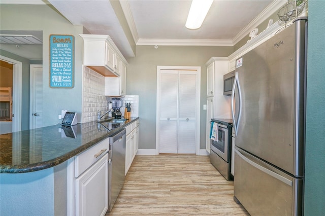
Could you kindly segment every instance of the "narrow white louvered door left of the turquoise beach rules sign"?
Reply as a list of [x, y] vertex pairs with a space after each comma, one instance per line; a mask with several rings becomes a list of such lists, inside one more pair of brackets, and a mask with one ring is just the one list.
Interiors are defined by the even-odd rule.
[[30, 65], [29, 129], [43, 126], [43, 65]]

